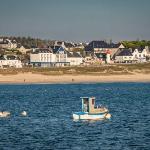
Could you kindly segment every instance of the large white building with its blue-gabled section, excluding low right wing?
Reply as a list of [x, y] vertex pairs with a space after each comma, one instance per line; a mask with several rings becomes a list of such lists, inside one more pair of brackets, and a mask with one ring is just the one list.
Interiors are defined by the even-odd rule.
[[69, 66], [67, 51], [61, 46], [48, 49], [34, 49], [30, 54], [30, 64], [37, 67]]

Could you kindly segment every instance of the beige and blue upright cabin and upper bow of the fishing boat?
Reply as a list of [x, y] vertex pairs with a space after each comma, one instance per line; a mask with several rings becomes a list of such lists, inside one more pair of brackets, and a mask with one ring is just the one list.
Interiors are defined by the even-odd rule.
[[81, 97], [82, 112], [98, 114], [108, 112], [108, 109], [101, 106], [95, 106], [95, 97]]

